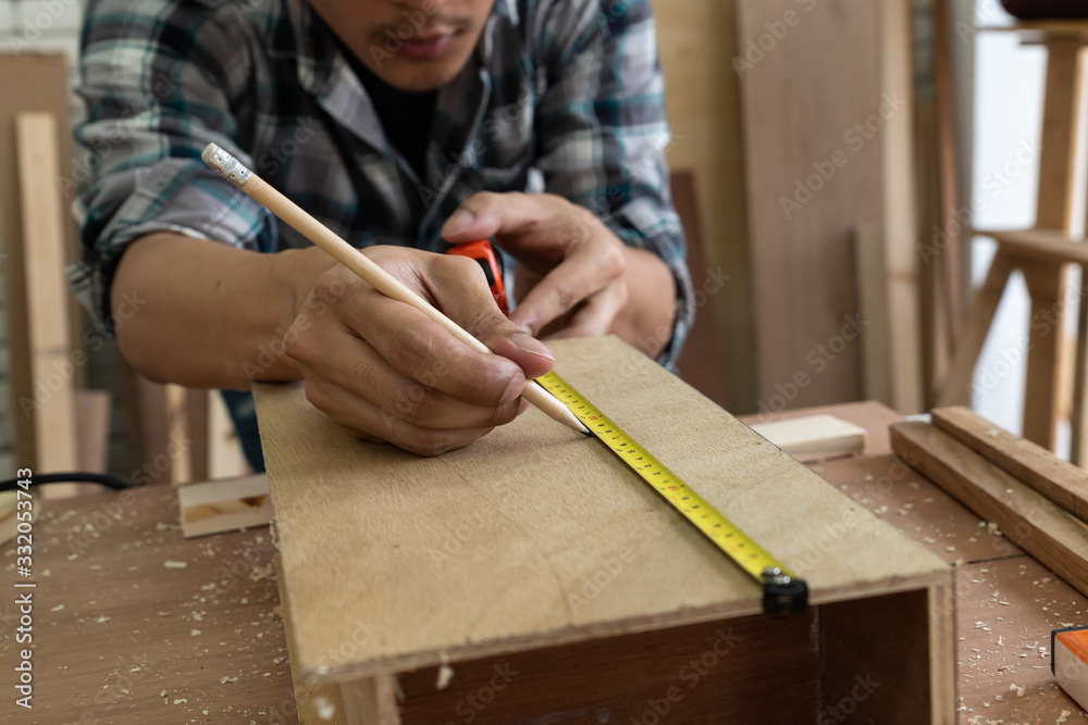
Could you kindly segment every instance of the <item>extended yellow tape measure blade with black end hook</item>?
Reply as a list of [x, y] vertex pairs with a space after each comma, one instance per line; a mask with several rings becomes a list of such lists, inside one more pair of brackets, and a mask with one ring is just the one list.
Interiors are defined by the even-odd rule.
[[536, 382], [562, 401], [593, 435], [763, 585], [765, 612], [775, 614], [782, 611], [804, 611], [808, 605], [808, 586], [804, 579], [794, 576], [561, 377], [553, 372], [536, 378]]

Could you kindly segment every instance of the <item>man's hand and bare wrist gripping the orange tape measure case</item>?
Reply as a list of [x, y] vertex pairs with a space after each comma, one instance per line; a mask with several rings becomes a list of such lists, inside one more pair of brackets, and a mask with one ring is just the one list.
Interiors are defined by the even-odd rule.
[[477, 193], [446, 221], [442, 236], [453, 243], [492, 238], [517, 260], [510, 320], [531, 335], [615, 333], [650, 355], [668, 341], [676, 300], [668, 267], [561, 197]]

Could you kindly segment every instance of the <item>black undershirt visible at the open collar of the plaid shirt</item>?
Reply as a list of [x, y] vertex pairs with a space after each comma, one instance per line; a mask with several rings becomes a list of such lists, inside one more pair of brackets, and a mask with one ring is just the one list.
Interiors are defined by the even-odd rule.
[[[339, 40], [337, 38], [337, 40]], [[382, 130], [390, 143], [400, 152], [422, 182], [426, 182], [426, 146], [431, 138], [431, 121], [437, 90], [411, 92], [400, 90], [379, 78], [347, 46], [339, 42], [341, 52], [367, 89]]]

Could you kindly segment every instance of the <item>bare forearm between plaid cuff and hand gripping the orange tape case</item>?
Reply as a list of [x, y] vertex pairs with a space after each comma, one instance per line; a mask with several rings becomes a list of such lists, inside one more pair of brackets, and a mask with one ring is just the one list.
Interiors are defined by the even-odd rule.
[[656, 358], [668, 345], [676, 316], [672, 272], [656, 254], [626, 248], [627, 303], [613, 321], [611, 333]]

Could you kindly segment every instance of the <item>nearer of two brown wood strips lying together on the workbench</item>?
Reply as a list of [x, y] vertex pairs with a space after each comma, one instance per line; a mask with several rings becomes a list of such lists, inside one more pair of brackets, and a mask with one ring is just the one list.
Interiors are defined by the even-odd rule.
[[934, 426], [899, 423], [891, 442], [897, 455], [1088, 593], [1088, 524]]

